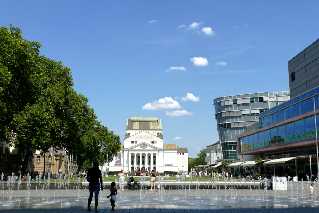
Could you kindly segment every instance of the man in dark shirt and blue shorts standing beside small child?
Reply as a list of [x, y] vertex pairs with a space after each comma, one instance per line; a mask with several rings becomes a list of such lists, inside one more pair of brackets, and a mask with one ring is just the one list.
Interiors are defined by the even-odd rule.
[[[100, 181], [99, 181], [100, 179]], [[93, 198], [93, 192], [95, 197], [95, 212], [98, 212], [98, 203], [99, 203], [99, 192], [100, 192], [100, 183], [101, 183], [101, 190], [103, 191], [103, 180], [102, 180], [102, 172], [99, 170], [99, 162], [94, 161], [93, 167], [87, 170], [86, 180], [90, 183], [90, 196], [89, 196], [89, 206], [87, 211], [92, 211], [90, 208], [91, 201]]]

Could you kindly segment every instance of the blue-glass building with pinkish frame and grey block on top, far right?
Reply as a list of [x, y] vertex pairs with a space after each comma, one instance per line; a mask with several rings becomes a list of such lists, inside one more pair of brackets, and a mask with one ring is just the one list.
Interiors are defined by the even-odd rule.
[[[319, 39], [291, 59], [288, 67], [292, 99], [262, 112], [257, 129], [238, 135], [239, 155], [259, 154], [263, 159], [317, 155]], [[312, 169], [317, 170], [316, 166]], [[300, 162], [298, 171], [309, 172], [309, 164]]]

